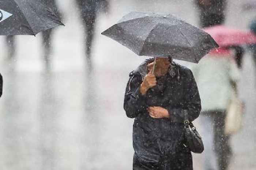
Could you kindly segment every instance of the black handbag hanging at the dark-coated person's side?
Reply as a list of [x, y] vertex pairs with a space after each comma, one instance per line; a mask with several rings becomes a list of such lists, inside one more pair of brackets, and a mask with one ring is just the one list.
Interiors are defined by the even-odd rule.
[[194, 153], [202, 153], [204, 151], [204, 144], [202, 137], [196, 131], [196, 127], [192, 122], [188, 120], [188, 112], [185, 110], [185, 146], [189, 148], [190, 151]]

